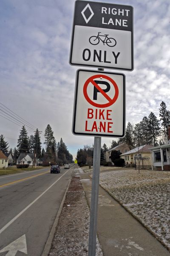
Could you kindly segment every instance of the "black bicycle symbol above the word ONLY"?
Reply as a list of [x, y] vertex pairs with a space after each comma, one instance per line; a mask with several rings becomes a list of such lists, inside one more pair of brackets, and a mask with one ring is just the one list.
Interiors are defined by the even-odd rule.
[[[105, 35], [100, 35], [100, 33], [101, 33], [101, 32], [98, 32], [98, 35], [97, 35], [97, 36], [92, 36], [92, 37], [89, 38], [89, 42], [90, 42], [92, 45], [96, 46], [96, 45], [100, 42], [100, 40], [101, 40], [104, 45], [105, 45], [105, 43], [106, 43], [107, 46], [110, 46], [110, 47], [116, 46], [116, 40], [115, 40], [114, 38], [108, 37], [107, 34], [105, 34]], [[104, 40], [102, 40], [101, 37], [102, 37], [102, 38], [105, 37]]]

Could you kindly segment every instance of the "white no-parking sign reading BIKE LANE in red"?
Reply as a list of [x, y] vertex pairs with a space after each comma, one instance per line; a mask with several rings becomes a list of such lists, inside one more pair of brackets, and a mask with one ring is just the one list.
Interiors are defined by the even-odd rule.
[[75, 135], [125, 135], [124, 74], [77, 71], [72, 130]]

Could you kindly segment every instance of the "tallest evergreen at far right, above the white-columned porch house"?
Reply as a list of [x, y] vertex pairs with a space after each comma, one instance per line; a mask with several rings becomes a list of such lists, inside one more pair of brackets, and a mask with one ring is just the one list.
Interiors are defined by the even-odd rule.
[[168, 136], [168, 127], [170, 126], [170, 111], [167, 110], [166, 104], [162, 101], [159, 108], [159, 117], [161, 120], [162, 132]]

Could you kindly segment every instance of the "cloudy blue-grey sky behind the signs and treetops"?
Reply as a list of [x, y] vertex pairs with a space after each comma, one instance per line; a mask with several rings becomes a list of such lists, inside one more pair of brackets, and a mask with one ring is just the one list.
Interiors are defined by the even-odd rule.
[[[105, 71], [126, 76], [126, 124], [151, 111], [159, 117], [162, 101], [170, 110], [170, 1], [114, 3], [133, 6], [134, 70]], [[42, 143], [50, 124], [57, 142], [62, 137], [74, 157], [94, 143], [93, 136], [72, 134], [76, 71], [87, 69], [69, 64], [73, 16], [74, 0], [0, 1], [0, 134], [10, 148], [17, 145], [22, 124], [3, 118], [4, 106], [42, 131]], [[102, 145], [110, 147], [113, 139], [102, 137]]]

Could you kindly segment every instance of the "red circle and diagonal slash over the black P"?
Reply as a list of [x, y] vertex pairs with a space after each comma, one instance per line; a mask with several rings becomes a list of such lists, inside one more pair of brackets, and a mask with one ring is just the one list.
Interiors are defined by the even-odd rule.
[[[111, 84], [113, 85], [114, 89], [115, 89], [115, 95], [113, 97], [113, 99], [111, 99], [111, 97], [108, 96], [108, 94], [105, 93], [105, 91], [103, 91], [102, 88], [100, 88], [100, 86], [94, 81], [94, 79], [96, 78], [104, 78], [106, 80], [109, 80], [111, 82]], [[108, 103], [105, 103], [105, 104], [98, 104], [96, 102], [93, 102], [89, 97], [88, 97], [88, 93], [87, 93], [87, 87], [88, 85], [92, 83], [96, 89], [106, 98], [106, 100], [108, 100]], [[85, 99], [93, 106], [95, 107], [99, 107], [99, 108], [106, 108], [106, 107], [109, 107], [111, 105], [113, 105], [114, 102], [116, 102], [118, 96], [119, 96], [119, 89], [118, 89], [118, 86], [116, 84], [116, 82], [111, 78], [111, 77], [108, 77], [106, 75], [94, 75], [92, 77], [89, 77], [88, 80], [86, 80], [85, 84], [84, 84], [84, 87], [83, 87], [83, 94], [85, 96]]]

